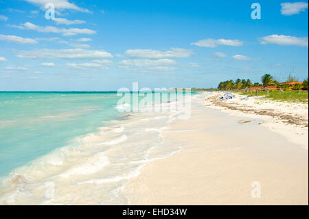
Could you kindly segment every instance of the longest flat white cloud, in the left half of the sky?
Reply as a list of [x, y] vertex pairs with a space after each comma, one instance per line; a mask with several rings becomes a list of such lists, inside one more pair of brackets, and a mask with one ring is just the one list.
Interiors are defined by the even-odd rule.
[[19, 58], [68, 58], [68, 59], [100, 59], [113, 58], [113, 55], [104, 50], [89, 49], [38, 49], [20, 51]]

